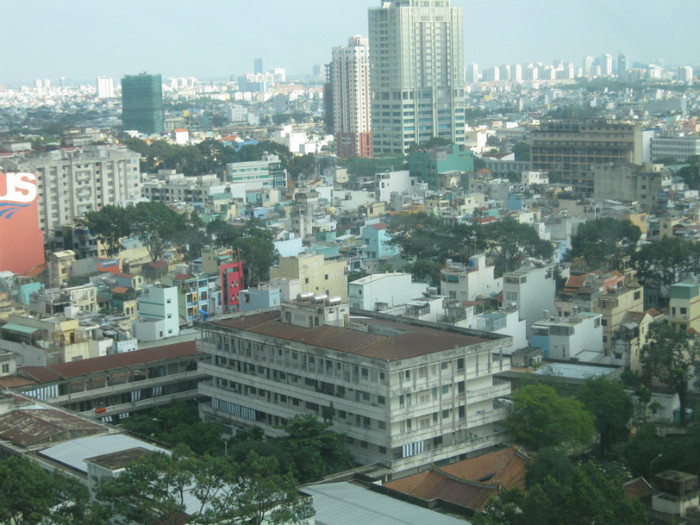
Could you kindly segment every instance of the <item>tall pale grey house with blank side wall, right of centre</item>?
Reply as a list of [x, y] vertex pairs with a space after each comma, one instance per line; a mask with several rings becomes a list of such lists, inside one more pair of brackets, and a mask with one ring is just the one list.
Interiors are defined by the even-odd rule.
[[514, 303], [518, 308], [520, 318], [527, 323], [528, 337], [532, 324], [542, 319], [544, 311], [554, 314], [555, 293], [554, 267], [550, 264], [526, 264], [503, 275], [503, 304]]

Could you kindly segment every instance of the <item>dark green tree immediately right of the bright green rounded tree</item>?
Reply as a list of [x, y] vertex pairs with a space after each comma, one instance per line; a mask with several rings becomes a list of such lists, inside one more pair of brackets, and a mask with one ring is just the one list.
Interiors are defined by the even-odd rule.
[[599, 452], [605, 456], [629, 436], [634, 412], [632, 399], [622, 383], [605, 376], [587, 379], [578, 397], [595, 418]]

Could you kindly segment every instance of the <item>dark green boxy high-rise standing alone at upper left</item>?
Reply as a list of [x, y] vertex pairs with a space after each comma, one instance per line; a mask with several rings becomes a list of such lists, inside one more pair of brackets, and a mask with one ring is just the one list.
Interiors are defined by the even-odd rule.
[[163, 86], [160, 75], [122, 78], [122, 127], [149, 135], [163, 131]]

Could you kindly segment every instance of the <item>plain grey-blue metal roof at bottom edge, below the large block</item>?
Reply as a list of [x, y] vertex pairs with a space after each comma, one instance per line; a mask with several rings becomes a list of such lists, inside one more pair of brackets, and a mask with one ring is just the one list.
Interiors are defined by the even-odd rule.
[[314, 498], [316, 525], [470, 525], [470, 522], [385, 496], [351, 483], [303, 487]]

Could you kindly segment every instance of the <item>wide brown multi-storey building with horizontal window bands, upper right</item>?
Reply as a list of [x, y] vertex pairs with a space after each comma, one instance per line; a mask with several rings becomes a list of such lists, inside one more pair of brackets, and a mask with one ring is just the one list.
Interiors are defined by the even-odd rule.
[[549, 121], [530, 134], [530, 169], [556, 171], [578, 192], [593, 192], [591, 168], [597, 164], [641, 164], [638, 125], [604, 120]]

